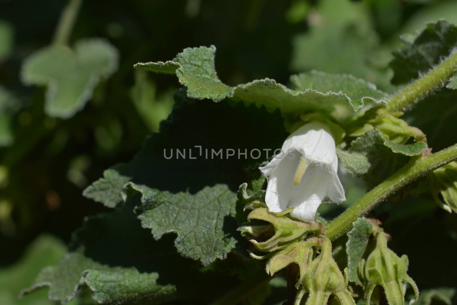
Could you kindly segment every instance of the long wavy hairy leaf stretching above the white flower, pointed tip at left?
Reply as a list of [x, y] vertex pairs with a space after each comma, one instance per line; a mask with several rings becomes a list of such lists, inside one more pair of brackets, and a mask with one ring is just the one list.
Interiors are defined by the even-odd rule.
[[[354, 89], [352, 82], [348, 81], [346, 75], [326, 75], [323, 73], [294, 78], [295, 82], [298, 83], [298, 90], [291, 90], [268, 78], [230, 87], [218, 79], [214, 65], [215, 52], [214, 46], [186, 48], [173, 61], [179, 64], [176, 75], [181, 83], [187, 87], [189, 97], [208, 98], [215, 102], [224, 98], [232, 98], [235, 102], [243, 101], [245, 104], [255, 104], [257, 107], [265, 106], [269, 111], [280, 109], [283, 113], [296, 113], [317, 109], [331, 110], [335, 104], [349, 105], [356, 111], [363, 106], [363, 101], [366, 99], [380, 102], [385, 101], [387, 96], [381, 91], [377, 91], [372, 84], [364, 83], [361, 80], [357, 82], [357, 88]], [[134, 67], [155, 72], [159, 72], [160, 68], [163, 68], [163, 73], [170, 72], [167, 65], [158, 63], [138, 63]], [[314, 80], [313, 76], [317, 79]], [[340, 86], [338, 88], [329, 86], [330, 82], [335, 79], [339, 81]], [[320, 82], [324, 82], [324, 84], [320, 85]], [[333, 91], [315, 90], [308, 83], [319, 88], [331, 87]], [[364, 96], [365, 93], [368, 96]]]

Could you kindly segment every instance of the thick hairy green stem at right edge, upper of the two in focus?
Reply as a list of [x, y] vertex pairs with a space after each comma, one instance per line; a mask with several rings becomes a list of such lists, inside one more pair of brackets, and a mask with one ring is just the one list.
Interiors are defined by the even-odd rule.
[[447, 80], [456, 71], [457, 51], [454, 51], [441, 64], [392, 96], [386, 106], [387, 110], [390, 112], [402, 111], [414, 103], [423, 100], [434, 91], [446, 85]]

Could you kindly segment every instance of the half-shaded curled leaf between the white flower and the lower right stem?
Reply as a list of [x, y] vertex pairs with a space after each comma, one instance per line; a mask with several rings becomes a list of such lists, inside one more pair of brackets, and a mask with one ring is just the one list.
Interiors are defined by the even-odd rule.
[[420, 155], [426, 148], [423, 142], [395, 144], [380, 130], [374, 129], [353, 140], [348, 150], [338, 149], [337, 154], [351, 174], [377, 183], [403, 166], [406, 156]]

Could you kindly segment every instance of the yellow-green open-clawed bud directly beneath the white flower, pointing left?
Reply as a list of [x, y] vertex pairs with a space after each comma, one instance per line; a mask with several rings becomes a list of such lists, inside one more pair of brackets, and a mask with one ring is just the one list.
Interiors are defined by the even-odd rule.
[[[288, 211], [285, 211], [284, 213], [287, 212]], [[251, 211], [248, 215], [248, 220], [251, 219], [265, 220], [273, 225], [274, 235], [268, 240], [259, 242], [254, 238], [250, 239], [250, 242], [254, 244], [255, 248], [262, 252], [273, 252], [283, 249], [292, 241], [303, 240], [309, 232], [323, 234], [325, 231], [324, 225], [319, 222], [295, 221], [288, 218], [286, 215], [275, 214], [265, 208]], [[266, 230], [271, 230], [271, 228], [267, 228]]]

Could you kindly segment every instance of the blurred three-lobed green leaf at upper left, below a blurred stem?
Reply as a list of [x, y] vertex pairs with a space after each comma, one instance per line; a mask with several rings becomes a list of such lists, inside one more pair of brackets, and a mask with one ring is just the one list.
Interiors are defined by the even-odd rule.
[[117, 49], [105, 40], [80, 40], [74, 50], [53, 45], [24, 60], [22, 81], [48, 86], [45, 111], [49, 116], [70, 118], [92, 97], [101, 78], [112, 75], [118, 66]]

